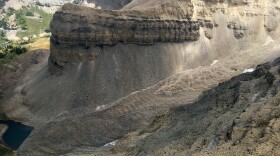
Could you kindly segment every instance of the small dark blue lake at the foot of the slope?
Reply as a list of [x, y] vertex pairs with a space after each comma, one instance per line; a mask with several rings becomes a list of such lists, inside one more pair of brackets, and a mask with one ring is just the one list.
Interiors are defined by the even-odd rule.
[[3, 134], [2, 139], [5, 144], [13, 150], [18, 149], [33, 130], [33, 127], [31, 126], [23, 125], [12, 120], [0, 120], [0, 124], [8, 126], [8, 129]]

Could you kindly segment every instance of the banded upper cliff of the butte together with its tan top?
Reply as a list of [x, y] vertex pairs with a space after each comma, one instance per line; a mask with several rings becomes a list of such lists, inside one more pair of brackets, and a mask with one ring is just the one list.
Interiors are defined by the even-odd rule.
[[80, 10], [57, 12], [51, 22], [52, 43], [88, 47], [119, 42], [184, 42], [199, 38], [199, 23], [196, 21], [139, 18], [141, 15], [135, 17], [108, 10], [88, 11], [91, 14], [83, 14]]

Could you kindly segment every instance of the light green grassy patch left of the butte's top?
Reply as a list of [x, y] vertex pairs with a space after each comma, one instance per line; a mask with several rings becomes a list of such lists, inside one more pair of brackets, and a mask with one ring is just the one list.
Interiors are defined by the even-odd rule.
[[20, 25], [23, 32], [18, 32], [18, 37], [39, 35], [49, 28], [52, 14], [48, 14], [36, 7], [23, 8], [16, 12], [16, 23]]

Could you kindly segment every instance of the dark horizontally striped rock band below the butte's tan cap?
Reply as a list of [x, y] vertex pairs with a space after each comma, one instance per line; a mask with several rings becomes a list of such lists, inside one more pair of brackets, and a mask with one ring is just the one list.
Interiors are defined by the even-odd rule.
[[[59, 19], [56, 14], [54, 20]], [[86, 23], [83, 17], [79, 22]], [[77, 19], [77, 18], [75, 18]], [[57, 32], [52, 29], [52, 42], [69, 46], [113, 45], [119, 42], [134, 44], [154, 44], [157, 42], [194, 41], [199, 37], [197, 22], [104, 19], [96, 23], [74, 26], [70, 32]], [[54, 27], [52, 27], [54, 28]]]

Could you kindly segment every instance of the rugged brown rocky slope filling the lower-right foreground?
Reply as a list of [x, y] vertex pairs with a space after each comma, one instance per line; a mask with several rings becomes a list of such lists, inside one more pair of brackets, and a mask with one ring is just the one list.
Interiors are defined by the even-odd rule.
[[279, 155], [280, 58], [171, 108], [104, 155]]

